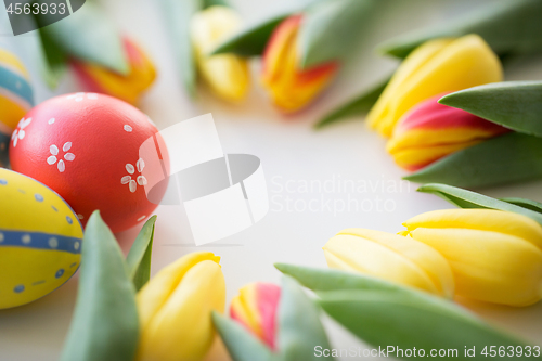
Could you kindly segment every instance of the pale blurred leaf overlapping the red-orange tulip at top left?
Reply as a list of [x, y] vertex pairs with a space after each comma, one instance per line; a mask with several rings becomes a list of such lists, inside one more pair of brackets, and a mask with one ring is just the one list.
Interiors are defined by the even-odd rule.
[[[129, 72], [120, 35], [94, 2], [87, 1], [79, 11], [40, 29], [56, 48], [85, 62], [96, 63], [119, 74]], [[49, 52], [55, 51], [55, 49]]]

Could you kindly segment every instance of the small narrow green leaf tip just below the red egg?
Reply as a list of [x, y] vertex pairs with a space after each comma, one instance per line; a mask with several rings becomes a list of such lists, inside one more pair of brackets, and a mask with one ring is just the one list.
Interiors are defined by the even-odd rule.
[[140, 291], [151, 279], [151, 255], [153, 253], [155, 222], [156, 216], [153, 216], [143, 224], [126, 257], [128, 271], [136, 291]]

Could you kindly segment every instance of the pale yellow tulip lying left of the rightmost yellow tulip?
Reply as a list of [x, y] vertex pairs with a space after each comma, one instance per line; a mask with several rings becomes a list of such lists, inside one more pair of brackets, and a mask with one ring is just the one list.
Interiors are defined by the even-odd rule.
[[323, 249], [331, 268], [363, 272], [453, 297], [450, 265], [422, 242], [386, 232], [350, 228], [331, 238]]

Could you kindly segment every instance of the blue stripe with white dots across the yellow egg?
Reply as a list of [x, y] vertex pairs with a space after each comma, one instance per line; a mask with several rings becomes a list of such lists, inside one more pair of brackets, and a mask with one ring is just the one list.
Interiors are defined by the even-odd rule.
[[64, 250], [70, 254], [81, 253], [81, 240], [40, 232], [0, 231], [0, 247], [15, 246], [35, 249]]

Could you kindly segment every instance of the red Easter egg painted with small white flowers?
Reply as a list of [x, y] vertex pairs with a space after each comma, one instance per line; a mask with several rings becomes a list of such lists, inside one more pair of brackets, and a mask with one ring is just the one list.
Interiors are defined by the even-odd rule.
[[[167, 155], [155, 152], [157, 156], [145, 159], [140, 147], [153, 143], [153, 136], [159, 142], [157, 132], [145, 114], [116, 98], [64, 94], [26, 114], [12, 137], [10, 162], [13, 170], [59, 193], [83, 224], [100, 209], [112, 231], [120, 232], [156, 208], [145, 186], [164, 179], [154, 170], [163, 169], [156, 163]], [[162, 198], [165, 186], [158, 193], [153, 201]]]

